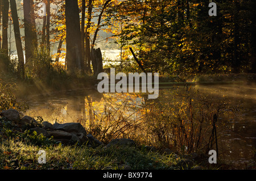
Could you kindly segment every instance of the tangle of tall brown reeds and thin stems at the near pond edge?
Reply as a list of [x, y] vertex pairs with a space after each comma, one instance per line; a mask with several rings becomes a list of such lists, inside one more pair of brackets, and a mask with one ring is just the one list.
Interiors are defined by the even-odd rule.
[[[217, 142], [212, 135], [216, 123], [213, 117], [225, 112], [225, 101], [211, 102], [199, 91], [187, 87], [180, 97], [180, 91], [167, 93], [176, 102], [164, 103], [146, 100], [135, 107], [134, 99], [127, 98], [121, 104], [108, 104], [102, 111], [88, 104], [90, 121], [85, 127], [98, 140], [108, 143], [114, 138], [131, 138], [140, 144], [159, 149], [170, 148], [182, 153], [203, 151], [207, 153]], [[90, 124], [85, 124], [89, 122]]]

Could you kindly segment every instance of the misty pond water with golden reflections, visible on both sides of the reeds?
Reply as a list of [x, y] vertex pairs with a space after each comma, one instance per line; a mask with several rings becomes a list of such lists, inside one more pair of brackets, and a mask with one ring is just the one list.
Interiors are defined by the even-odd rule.
[[[153, 100], [153, 106], [159, 102], [171, 102], [168, 94], [161, 92], [172, 92], [177, 89], [185, 90], [185, 87], [170, 86], [160, 88], [159, 98]], [[34, 117], [41, 116], [43, 120], [55, 123], [55, 121], [81, 122], [98, 121], [97, 116], [102, 115], [106, 106], [115, 106], [126, 102], [126, 115], [133, 114], [146, 102], [147, 96], [140, 94], [100, 94], [97, 87], [83, 90], [68, 90], [50, 92], [47, 95], [32, 95], [25, 100], [30, 106], [26, 115]], [[226, 103], [237, 107], [238, 111], [232, 117], [218, 117], [217, 135], [218, 151], [221, 158], [227, 163], [232, 163], [234, 169], [243, 169], [254, 155], [256, 148], [256, 85], [193, 85], [193, 89], [199, 90], [200, 94], [209, 95], [213, 101]], [[178, 99], [179, 95], [177, 95]], [[125, 115], [124, 115], [125, 116]]]

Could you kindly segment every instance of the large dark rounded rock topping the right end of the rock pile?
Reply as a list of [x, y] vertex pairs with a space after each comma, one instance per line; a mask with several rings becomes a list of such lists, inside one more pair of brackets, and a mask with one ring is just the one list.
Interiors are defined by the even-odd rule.
[[87, 135], [84, 127], [80, 123], [64, 123], [64, 124], [59, 124], [55, 123], [53, 124], [53, 128], [65, 132], [76, 132], [76, 133], [83, 133], [84, 135]]

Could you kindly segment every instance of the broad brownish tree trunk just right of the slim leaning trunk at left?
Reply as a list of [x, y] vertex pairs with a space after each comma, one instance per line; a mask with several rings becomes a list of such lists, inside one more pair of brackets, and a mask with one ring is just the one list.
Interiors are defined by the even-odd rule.
[[31, 61], [34, 56], [34, 50], [38, 47], [33, 4], [32, 0], [23, 0], [25, 57], [26, 65], [30, 66], [32, 66]]

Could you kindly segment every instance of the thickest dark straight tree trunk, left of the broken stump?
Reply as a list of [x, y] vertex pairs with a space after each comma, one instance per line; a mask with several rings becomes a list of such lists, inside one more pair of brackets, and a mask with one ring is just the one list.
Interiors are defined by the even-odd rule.
[[76, 69], [81, 70], [81, 31], [79, 6], [77, 1], [65, 0], [66, 18], [66, 62], [67, 70], [74, 74]]

